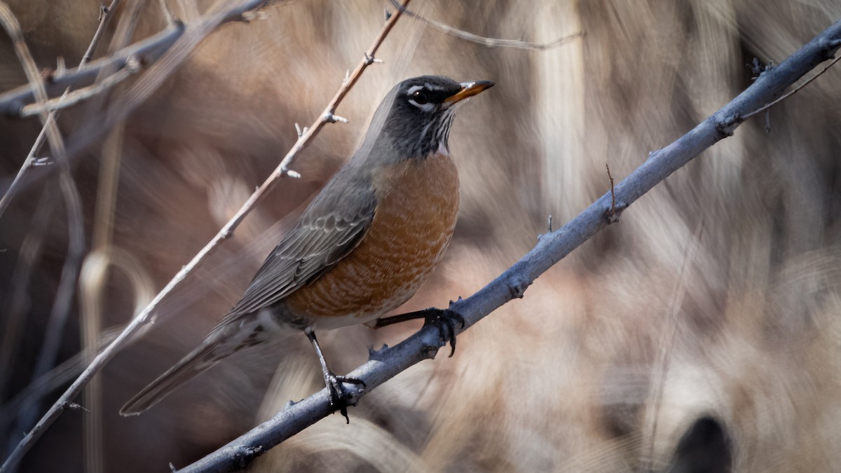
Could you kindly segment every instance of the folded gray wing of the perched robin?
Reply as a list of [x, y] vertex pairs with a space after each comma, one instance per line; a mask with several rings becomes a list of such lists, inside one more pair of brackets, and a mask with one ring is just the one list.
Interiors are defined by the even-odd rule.
[[317, 279], [357, 247], [373, 221], [377, 199], [366, 179], [341, 172], [310, 203], [298, 224], [269, 253], [242, 299], [211, 333], [282, 300]]

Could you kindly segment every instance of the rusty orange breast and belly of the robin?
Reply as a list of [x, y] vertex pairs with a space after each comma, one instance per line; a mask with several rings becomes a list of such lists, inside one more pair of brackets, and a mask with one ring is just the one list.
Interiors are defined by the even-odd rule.
[[373, 179], [377, 210], [349, 255], [286, 298], [288, 309], [333, 328], [403, 304], [441, 261], [458, 217], [458, 173], [447, 154], [400, 162]]

